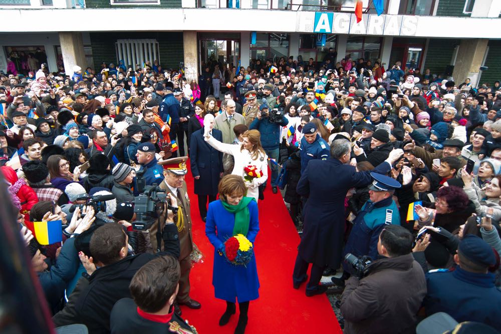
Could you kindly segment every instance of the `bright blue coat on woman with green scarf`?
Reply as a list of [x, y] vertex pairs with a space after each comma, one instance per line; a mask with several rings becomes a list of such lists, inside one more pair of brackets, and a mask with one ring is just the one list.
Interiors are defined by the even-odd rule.
[[[248, 204], [250, 221], [247, 239], [254, 244], [259, 232], [258, 203], [252, 201]], [[226, 211], [221, 200], [209, 203], [207, 221], [205, 222], [205, 234], [214, 246], [214, 267], [212, 271], [212, 285], [214, 285], [215, 297], [231, 302], [254, 300], [259, 297], [259, 279], [256, 266], [256, 255], [246, 265], [233, 265], [217, 250], [221, 249], [224, 242], [233, 235], [235, 215]]]

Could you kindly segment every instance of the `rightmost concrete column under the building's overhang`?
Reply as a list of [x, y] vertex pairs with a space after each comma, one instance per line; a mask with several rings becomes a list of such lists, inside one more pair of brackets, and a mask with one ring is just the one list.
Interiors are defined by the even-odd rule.
[[486, 39], [461, 41], [454, 72], [452, 72], [452, 77], [455, 82], [464, 82], [466, 78], [470, 78], [471, 86], [476, 86], [479, 67], [482, 66], [488, 42], [489, 40]]

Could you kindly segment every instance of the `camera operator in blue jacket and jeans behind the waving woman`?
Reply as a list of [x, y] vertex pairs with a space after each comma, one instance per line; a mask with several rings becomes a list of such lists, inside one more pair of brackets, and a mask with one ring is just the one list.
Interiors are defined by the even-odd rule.
[[[259, 109], [260, 112], [258, 113], [258, 118], [250, 124], [249, 130], [258, 130], [261, 133], [261, 144], [263, 145], [268, 158], [278, 161], [280, 153], [280, 134], [282, 132], [282, 127], [289, 124], [289, 120], [284, 117], [283, 109], [282, 111], [273, 109], [270, 114], [266, 103], [263, 103]], [[272, 191], [276, 194], [278, 191], [278, 167], [277, 164], [271, 162], [270, 165], [272, 169]]]

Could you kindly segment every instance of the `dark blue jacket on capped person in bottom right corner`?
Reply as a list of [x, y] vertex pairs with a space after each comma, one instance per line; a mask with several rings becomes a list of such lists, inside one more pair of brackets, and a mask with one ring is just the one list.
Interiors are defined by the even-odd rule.
[[426, 315], [445, 312], [457, 322], [483, 322], [501, 331], [501, 291], [494, 285], [494, 274], [456, 267], [454, 271], [429, 272], [426, 284]]

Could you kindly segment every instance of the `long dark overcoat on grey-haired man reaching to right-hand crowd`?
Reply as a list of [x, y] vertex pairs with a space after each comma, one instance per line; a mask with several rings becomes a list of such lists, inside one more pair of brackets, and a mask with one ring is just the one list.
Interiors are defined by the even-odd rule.
[[[387, 174], [384, 162], [372, 172]], [[310, 263], [339, 268], [345, 228], [345, 197], [350, 188], [367, 186], [371, 171], [357, 172], [338, 159], [310, 160], [299, 180], [297, 191], [308, 200], [299, 254]]]

